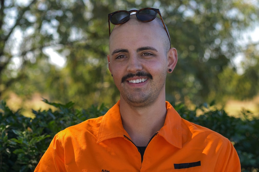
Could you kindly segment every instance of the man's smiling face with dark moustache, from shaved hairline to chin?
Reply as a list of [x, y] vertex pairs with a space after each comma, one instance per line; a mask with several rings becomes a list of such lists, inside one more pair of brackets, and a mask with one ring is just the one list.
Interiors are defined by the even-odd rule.
[[156, 22], [127, 22], [116, 26], [110, 37], [109, 69], [130, 106], [152, 105], [165, 96], [168, 60]]

